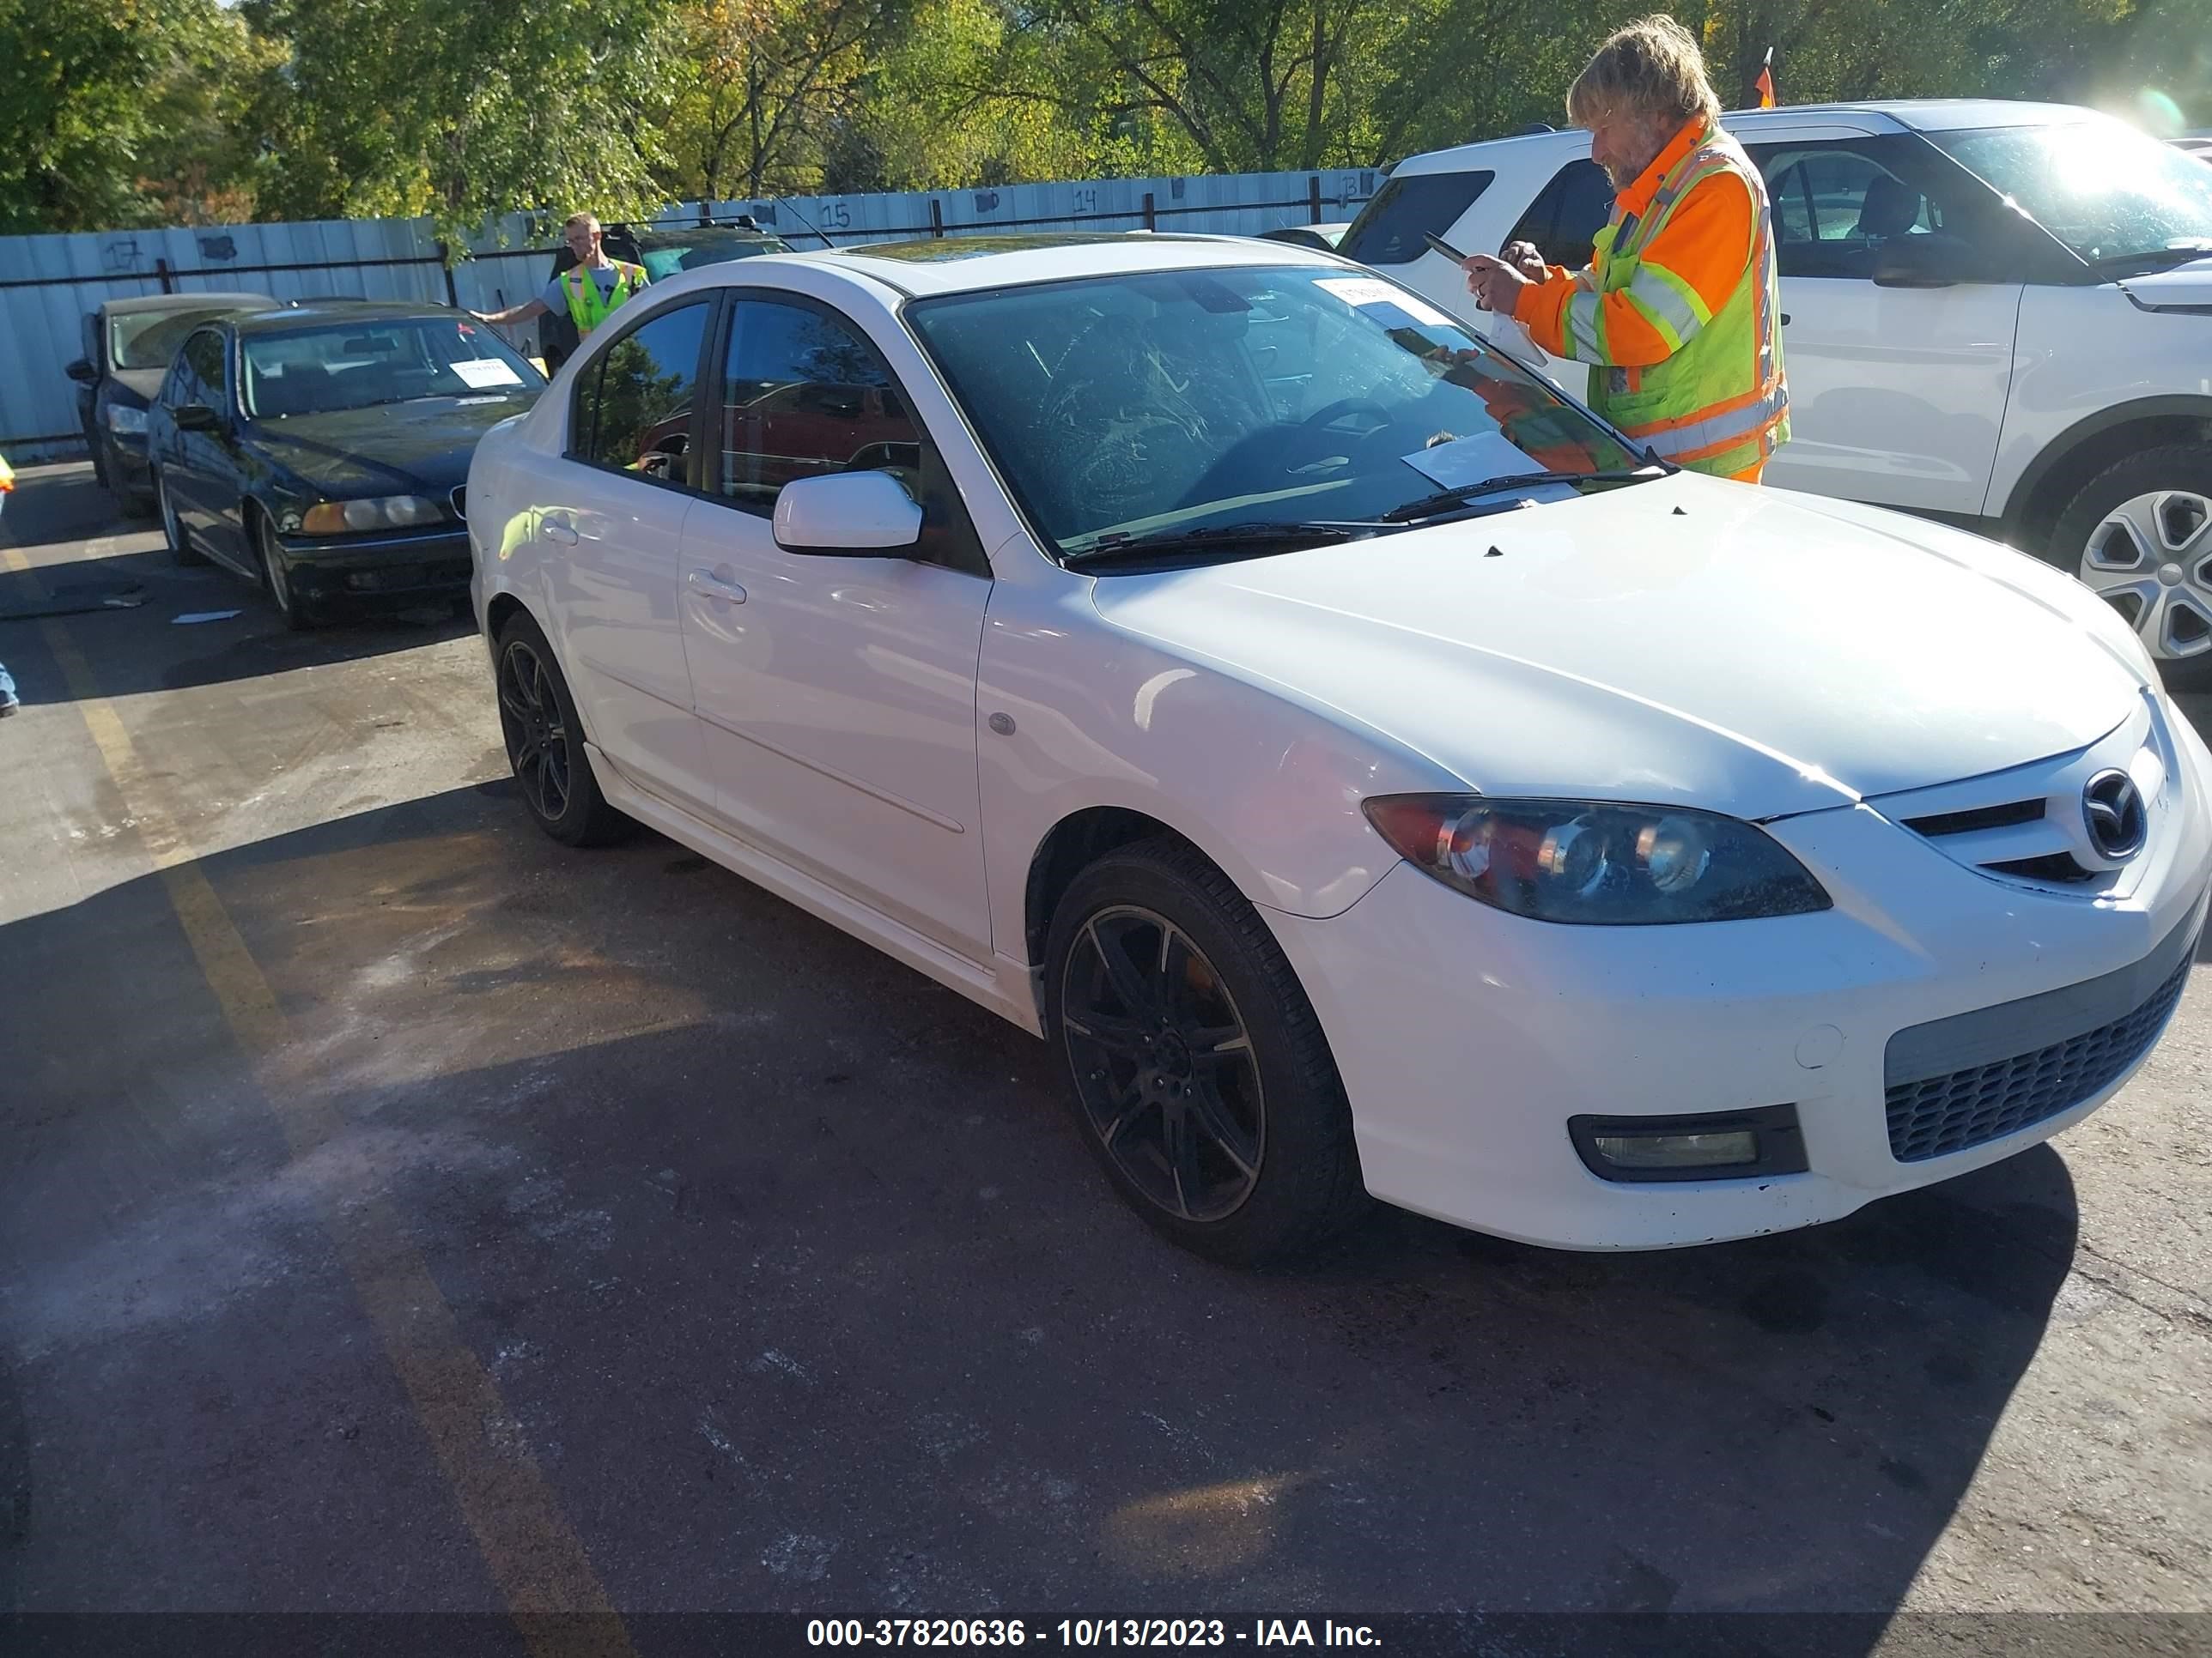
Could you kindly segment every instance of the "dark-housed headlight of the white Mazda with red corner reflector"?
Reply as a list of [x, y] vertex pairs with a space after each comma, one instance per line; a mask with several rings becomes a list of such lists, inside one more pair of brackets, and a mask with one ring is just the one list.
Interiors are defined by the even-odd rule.
[[1652, 926], [1829, 909], [1761, 829], [1710, 811], [1599, 800], [1391, 794], [1363, 802], [1409, 864], [1537, 922]]

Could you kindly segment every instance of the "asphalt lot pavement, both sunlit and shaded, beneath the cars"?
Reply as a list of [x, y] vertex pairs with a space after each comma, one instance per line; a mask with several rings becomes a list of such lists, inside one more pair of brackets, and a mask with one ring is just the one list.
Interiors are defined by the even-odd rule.
[[84, 466], [22, 473], [0, 615], [0, 1614], [2212, 1643], [2203, 966], [2115, 1105], [1832, 1227], [1385, 1211], [1248, 1276], [1108, 1194], [1042, 1043], [540, 836], [462, 615], [288, 634]]

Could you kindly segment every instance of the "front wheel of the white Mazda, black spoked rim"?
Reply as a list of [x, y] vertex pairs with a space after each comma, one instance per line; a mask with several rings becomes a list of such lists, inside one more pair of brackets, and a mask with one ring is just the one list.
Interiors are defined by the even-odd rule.
[[1146, 840], [1075, 878], [1044, 993], [1077, 1125], [1161, 1234], [1252, 1267], [1365, 1214], [1321, 1021], [1259, 911], [1188, 844]]

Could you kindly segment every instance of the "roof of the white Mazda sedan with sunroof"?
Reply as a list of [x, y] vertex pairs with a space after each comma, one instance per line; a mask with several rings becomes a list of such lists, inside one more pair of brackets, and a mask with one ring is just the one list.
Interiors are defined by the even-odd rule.
[[[887, 241], [834, 252], [776, 254], [776, 259], [834, 265], [909, 296], [1219, 265], [1327, 265], [1343, 270], [1340, 259], [1287, 241], [1270, 241], [1263, 250], [1250, 237], [1157, 237], [1141, 230]], [[745, 279], [732, 276], [732, 281]]]

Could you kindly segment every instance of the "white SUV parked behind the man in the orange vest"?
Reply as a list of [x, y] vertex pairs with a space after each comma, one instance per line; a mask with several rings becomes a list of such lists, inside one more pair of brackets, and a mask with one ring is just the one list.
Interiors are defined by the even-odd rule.
[[[1944, 517], [2073, 570], [2161, 661], [2212, 668], [2212, 168], [2062, 104], [1739, 111], [1774, 199], [1792, 440], [1767, 482]], [[1586, 133], [1400, 164], [1338, 252], [1579, 396], [1464, 252], [1584, 265], [1613, 188]]]

